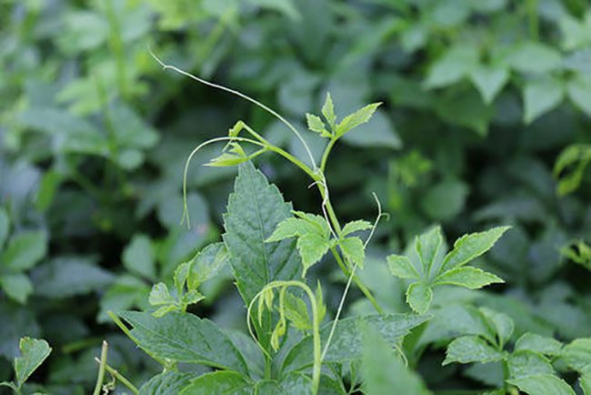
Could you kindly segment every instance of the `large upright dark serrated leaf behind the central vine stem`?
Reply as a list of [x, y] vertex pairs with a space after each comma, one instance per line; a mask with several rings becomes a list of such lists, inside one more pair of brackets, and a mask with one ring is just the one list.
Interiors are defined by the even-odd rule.
[[265, 242], [280, 222], [292, 216], [291, 211], [277, 188], [251, 163], [239, 167], [224, 217], [224, 242], [246, 305], [269, 282], [300, 276], [301, 260], [293, 240]]

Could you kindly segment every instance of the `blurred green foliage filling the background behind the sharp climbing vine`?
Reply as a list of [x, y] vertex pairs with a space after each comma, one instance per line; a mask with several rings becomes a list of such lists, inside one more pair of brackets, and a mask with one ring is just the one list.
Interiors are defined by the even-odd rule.
[[[591, 335], [591, 254], [573, 244], [591, 232], [586, 0], [0, 0], [0, 26], [0, 381], [24, 335], [55, 349], [34, 377], [52, 393], [92, 388], [104, 338], [110, 365], [138, 383], [153, 375], [105, 311], [145, 308], [153, 283], [219, 238], [235, 169], [198, 166], [221, 146], [195, 157], [186, 229], [191, 150], [243, 119], [306, 159], [275, 119], [163, 71], [148, 47], [275, 108], [316, 156], [304, 115], [326, 92], [341, 116], [384, 102], [336, 148], [327, 179], [342, 218], [375, 218], [372, 192], [390, 213], [361, 273], [389, 311], [407, 308], [387, 253], [434, 223], [449, 240], [510, 224], [480, 259], [506, 285], [448, 300], [505, 311], [517, 334]], [[295, 208], [319, 207], [295, 167], [257, 165]], [[336, 309], [344, 279], [329, 260], [316, 276]], [[244, 329], [230, 278], [207, 283], [195, 312]], [[356, 291], [349, 302], [371, 311]], [[419, 365], [433, 389], [489, 380], [442, 359], [434, 348]]]

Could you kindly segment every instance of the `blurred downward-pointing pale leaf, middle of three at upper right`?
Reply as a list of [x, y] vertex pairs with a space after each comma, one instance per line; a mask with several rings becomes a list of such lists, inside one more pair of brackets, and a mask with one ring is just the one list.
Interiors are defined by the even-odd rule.
[[538, 116], [558, 106], [565, 97], [565, 86], [556, 78], [537, 78], [524, 86], [524, 122], [532, 123]]

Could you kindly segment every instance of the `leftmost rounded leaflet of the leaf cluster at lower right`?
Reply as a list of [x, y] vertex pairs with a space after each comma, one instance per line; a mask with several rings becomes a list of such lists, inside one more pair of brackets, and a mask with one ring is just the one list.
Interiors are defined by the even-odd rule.
[[452, 362], [470, 363], [470, 362], [492, 362], [502, 360], [505, 354], [493, 349], [485, 339], [477, 336], [463, 336], [449, 343], [446, 350], [446, 360], [443, 365]]

